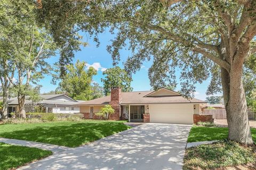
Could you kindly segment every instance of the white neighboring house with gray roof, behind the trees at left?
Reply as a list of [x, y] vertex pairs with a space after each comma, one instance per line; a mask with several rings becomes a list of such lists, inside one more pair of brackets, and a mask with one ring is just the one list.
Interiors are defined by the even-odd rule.
[[[81, 102], [81, 100], [75, 100], [66, 94], [59, 95], [41, 95], [42, 100], [38, 101], [38, 105], [43, 106], [43, 112], [46, 113], [79, 113], [79, 107], [74, 106]], [[31, 103], [31, 101], [26, 100], [25, 105]], [[18, 98], [10, 98], [8, 101], [8, 113], [19, 112]], [[25, 107], [26, 112], [29, 112], [29, 108]]]

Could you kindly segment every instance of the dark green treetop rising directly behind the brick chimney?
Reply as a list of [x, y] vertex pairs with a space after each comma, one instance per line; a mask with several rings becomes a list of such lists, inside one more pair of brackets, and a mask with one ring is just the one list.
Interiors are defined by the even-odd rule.
[[101, 81], [106, 96], [110, 94], [111, 87], [122, 87], [123, 92], [132, 91], [132, 77], [124, 69], [115, 66], [104, 71], [103, 75], [105, 75], [105, 78]]

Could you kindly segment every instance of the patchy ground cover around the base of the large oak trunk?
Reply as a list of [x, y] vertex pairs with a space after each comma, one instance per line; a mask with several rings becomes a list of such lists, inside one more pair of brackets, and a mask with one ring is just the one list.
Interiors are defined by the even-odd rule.
[[199, 145], [186, 150], [183, 169], [214, 169], [254, 164], [256, 148], [243, 147], [236, 142], [222, 140], [211, 145]]

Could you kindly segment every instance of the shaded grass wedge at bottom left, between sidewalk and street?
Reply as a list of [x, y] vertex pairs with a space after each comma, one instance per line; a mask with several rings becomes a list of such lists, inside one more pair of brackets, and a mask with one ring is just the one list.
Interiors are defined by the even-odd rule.
[[50, 155], [52, 155], [52, 152], [48, 150], [14, 146], [0, 142], [0, 169], [17, 168]]

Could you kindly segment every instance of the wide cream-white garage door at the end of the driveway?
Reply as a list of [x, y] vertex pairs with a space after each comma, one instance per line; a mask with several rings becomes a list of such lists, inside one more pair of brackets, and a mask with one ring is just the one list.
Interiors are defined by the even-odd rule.
[[150, 105], [150, 122], [193, 124], [193, 104]]

